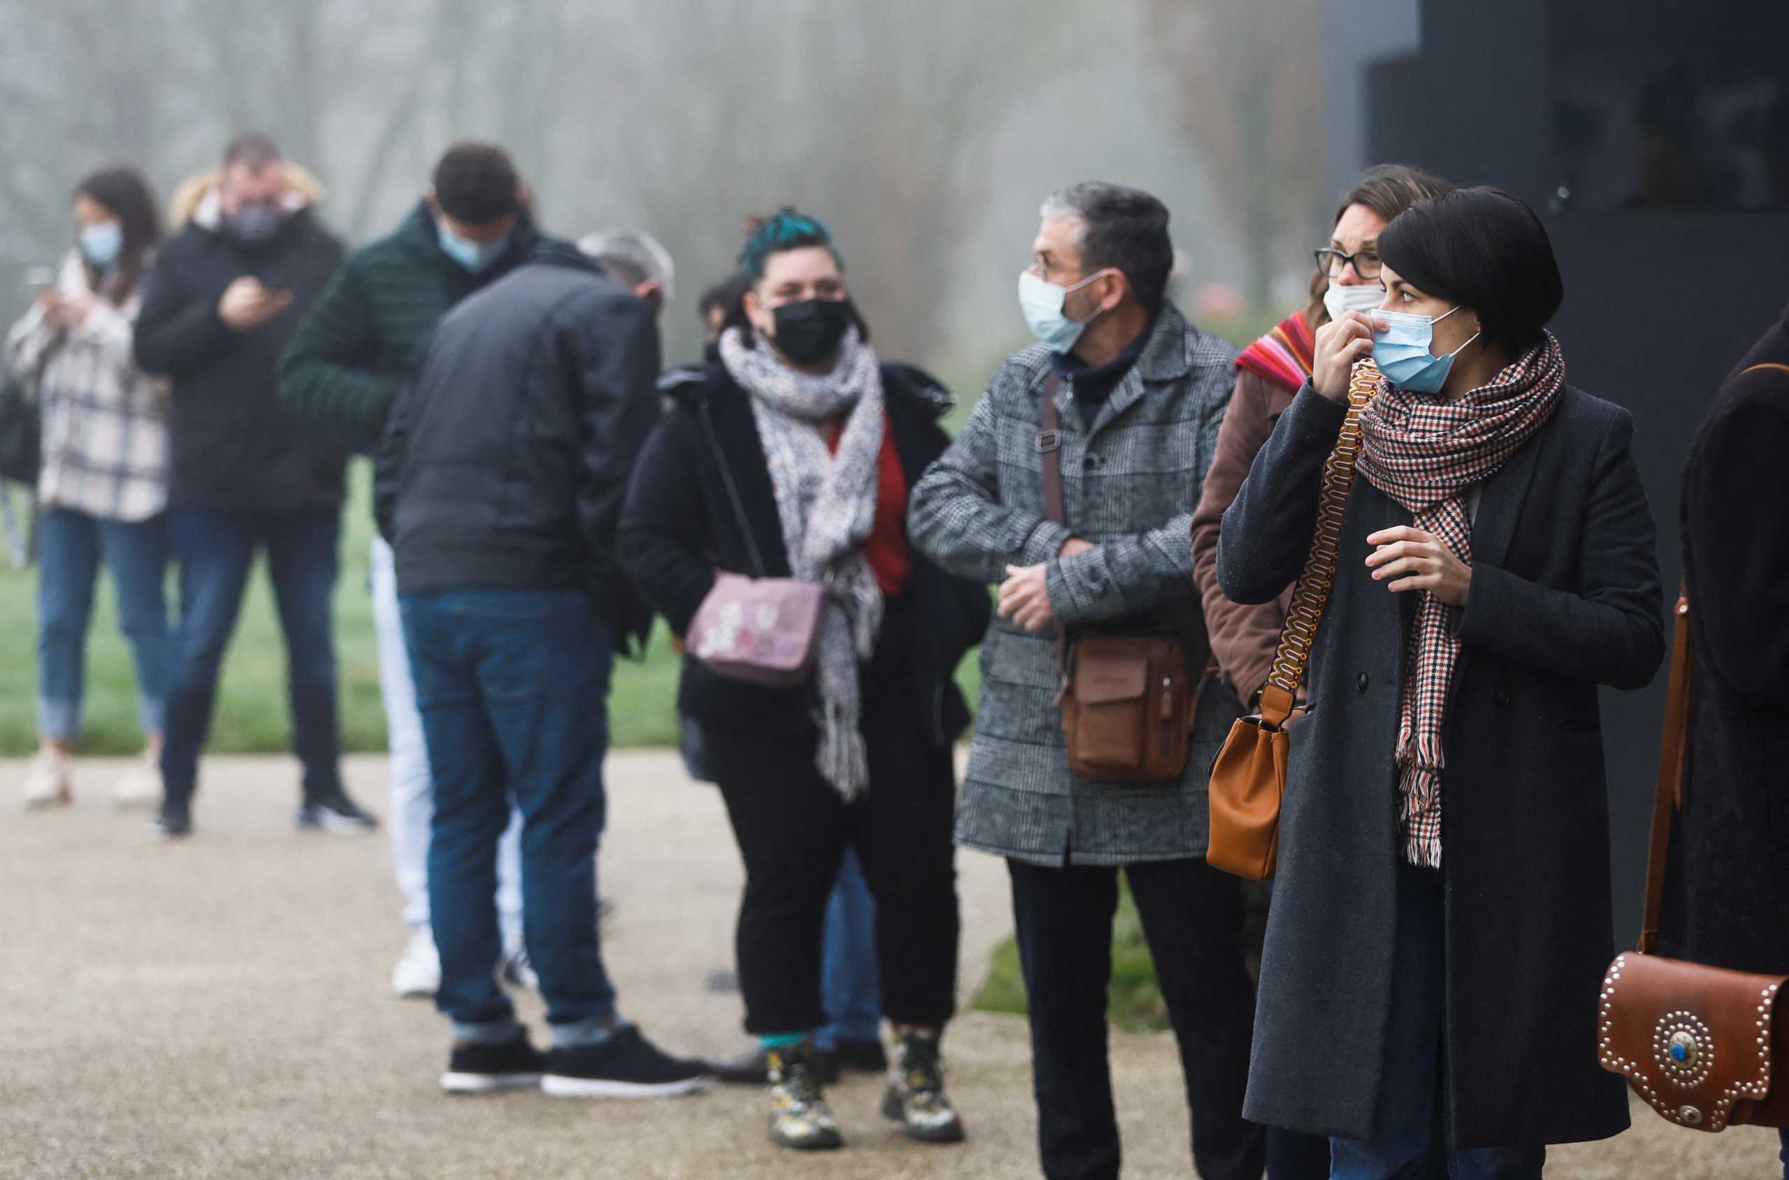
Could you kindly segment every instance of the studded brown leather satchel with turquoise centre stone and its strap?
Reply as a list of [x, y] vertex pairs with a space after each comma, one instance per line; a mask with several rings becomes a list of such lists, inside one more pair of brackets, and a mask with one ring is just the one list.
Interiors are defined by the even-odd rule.
[[1646, 860], [1646, 917], [1637, 953], [1617, 955], [1598, 999], [1598, 1060], [1669, 1123], [1719, 1132], [1735, 1123], [1789, 1126], [1789, 1012], [1782, 976], [1662, 958], [1658, 910], [1671, 813], [1683, 803], [1692, 645], [1689, 603], [1676, 604], [1671, 697]]

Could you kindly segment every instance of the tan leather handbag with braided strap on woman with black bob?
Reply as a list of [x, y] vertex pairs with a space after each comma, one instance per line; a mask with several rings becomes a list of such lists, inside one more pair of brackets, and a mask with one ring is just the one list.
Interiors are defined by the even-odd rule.
[[1354, 486], [1354, 461], [1360, 458], [1360, 411], [1379, 388], [1379, 370], [1356, 365], [1347, 390], [1347, 418], [1335, 451], [1324, 463], [1318, 492], [1317, 529], [1304, 572], [1292, 592], [1286, 626], [1279, 633], [1274, 670], [1261, 688], [1261, 712], [1238, 717], [1231, 735], [1211, 763], [1211, 840], [1206, 860], [1215, 869], [1251, 881], [1274, 876], [1279, 858], [1279, 803], [1286, 794], [1286, 728], [1304, 717], [1297, 708], [1299, 681], [1317, 642], [1329, 590], [1336, 577], [1336, 544], [1342, 540], [1342, 513]]

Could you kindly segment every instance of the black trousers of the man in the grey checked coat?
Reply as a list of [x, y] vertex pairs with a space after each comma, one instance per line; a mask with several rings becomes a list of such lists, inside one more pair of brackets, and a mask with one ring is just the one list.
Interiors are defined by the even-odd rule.
[[[1009, 860], [1013, 917], [1030, 1010], [1038, 1148], [1047, 1180], [1115, 1180], [1120, 1150], [1106, 1057], [1118, 869]], [[1242, 1117], [1254, 1039], [1243, 965], [1242, 887], [1204, 860], [1125, 867], [1181, 1048], [1204, 1180], [1259, 1180], [1268, 1135]], [[1276, 1132], [1274, 1180], [1327, 1176], [1327, 1142]], [[1308, 1148], [1308, 1150], [1304, 1150]], [[1302, 1159], [1301, 1159], [1302, 1157]], [[1285, 1164], [1281, 1164], [1285, 1160]]]

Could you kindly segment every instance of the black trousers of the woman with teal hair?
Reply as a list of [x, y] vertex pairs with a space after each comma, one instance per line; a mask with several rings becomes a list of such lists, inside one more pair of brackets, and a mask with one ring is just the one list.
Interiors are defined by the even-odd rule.
[[891, 604], [864, 674], [869, 790], [850, 805], [814, 767], [818, 733], [791, 738], [703, 724], [708, 765], [746, 862], [737, 955], [750, 1033], [827, 1024], [821, 935], [846, 846], [857, 849], [877, 901], [882, 1014], [939, 1026], [955, 1010], [955, 771], [950, 747], [928, 735], [911, 651], [911, 619]]

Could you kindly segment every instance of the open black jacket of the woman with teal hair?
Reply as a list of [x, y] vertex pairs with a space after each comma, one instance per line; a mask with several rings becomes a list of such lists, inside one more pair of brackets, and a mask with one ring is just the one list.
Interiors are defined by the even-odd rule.
[[[721, 365], [682, 370], [680, 375], [680, 381], [667, 383], [676, 408], [653, 433], [633, 472], [621, 517], [621, 552], [640, 594], [674, 633], [683, 635], [714, 588], [717, 569], [757, 576], [750, 542], [737, 524], [728, 476], [764, 558], [764, 576], [789, 577], [789, 551], [746, 392]], [[882, 388], [894, 451], [912, 488], [950, 445], [939, 426], [950, 409], [950, 395], [928, 374], [909, 365], [884, 365]], [[970, 722], [954, 674], [962, 654], [982, 642], [993, 606], [986, 586], [952, 577], [918, 549], [912, 549], [905, 597], [920, 619], [921, 649], [916, 656], [927, 687], [925, 717], [930, 737], [943, 746]], [[757, 733], [800, 733], [814, 724], [807, 687], [748, 685], [716, 676], [698, 660], [683, 662], [678, 712]]]

